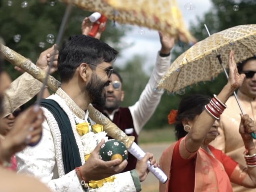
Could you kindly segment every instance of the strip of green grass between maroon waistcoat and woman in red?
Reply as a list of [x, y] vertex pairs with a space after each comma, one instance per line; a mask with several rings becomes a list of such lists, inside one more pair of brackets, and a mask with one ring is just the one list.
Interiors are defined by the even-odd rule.
[[174, 142], [175, 135], [174, 129], [170, 127], [154, 129], [154, 130], [142, 130], [139, 136], [139, 144], [142, 143], [159, 143], [159, 142]]

